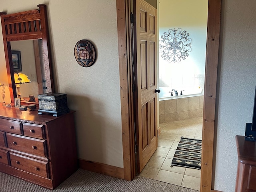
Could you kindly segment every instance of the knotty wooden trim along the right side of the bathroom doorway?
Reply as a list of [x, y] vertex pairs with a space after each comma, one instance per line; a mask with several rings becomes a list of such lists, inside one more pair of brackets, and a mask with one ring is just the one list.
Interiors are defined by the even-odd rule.
[[221, 0], [208, 0], [204, 112], [202, 132], [201, 192], [212, 189], [214, 125], [220, 40]]

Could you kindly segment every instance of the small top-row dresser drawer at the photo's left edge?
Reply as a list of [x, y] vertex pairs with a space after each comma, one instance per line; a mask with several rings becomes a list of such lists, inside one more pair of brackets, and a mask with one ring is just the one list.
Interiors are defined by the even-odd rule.
[[0, 130], [9, 133], [22, 134], [20, 129], [21, 122], [7, 119], [0, 119]]

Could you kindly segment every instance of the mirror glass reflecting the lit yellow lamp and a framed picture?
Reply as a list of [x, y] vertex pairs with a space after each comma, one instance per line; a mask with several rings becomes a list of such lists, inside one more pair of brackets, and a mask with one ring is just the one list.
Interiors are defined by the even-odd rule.
[[[29, 97], [33, 95], [37, 100], [38, 94], [47, 92], [45, 89], [46, 78], [44, 74], [42, 39], [12, 41], [10, 44], [12, 67], [14, 73], [16, 73], [14, 77], [16, 77], [17, 97], [21, 97], [21, 100], [29, 101]], [[24, 79], [23, 82], [18, 80], [23, 74], [28, 76], [30, 82], [27, 79]]]

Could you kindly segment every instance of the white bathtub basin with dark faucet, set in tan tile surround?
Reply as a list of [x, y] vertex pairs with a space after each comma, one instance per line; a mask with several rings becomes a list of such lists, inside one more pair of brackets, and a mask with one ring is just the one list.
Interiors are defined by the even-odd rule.
[[170, 100], [170, 99], [180, 99], [180, 98], [188, 98], [188, 97], [196, 97], [196, 96], [203, 96], [204, 89], [197, 88], [197, 89], [182, 89], [182, 95], [180, 95], [181, 89], [175, 89], [178, 91], [178, 96], [175, 95], [174, 91], [172, 92], [173, 96], [171, 96], [172, 88], [169, 87], [159, 87], [161, 92], [159, 93], [159, 101], [163, 100]]

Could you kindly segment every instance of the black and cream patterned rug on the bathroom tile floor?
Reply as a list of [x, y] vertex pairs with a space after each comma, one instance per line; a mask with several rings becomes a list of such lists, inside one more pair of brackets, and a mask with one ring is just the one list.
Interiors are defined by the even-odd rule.
[[201, 170], [202, 140], [180, 138], [172, 165]]

